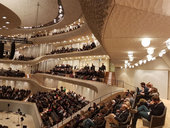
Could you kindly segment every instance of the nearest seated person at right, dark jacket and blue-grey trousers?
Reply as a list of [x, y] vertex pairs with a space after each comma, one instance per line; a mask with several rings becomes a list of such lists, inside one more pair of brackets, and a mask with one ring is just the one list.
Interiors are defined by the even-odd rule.
[[141, 105], [137, 108], [137, 113], [134, 115], [134, 118], [132, 120], [132, 126], [131, 128], [136, 128], [136, 122], [138, 118], [143, 117], [150, 121], [151, 116], [160, 116], [163, 114], [163, 111], [165, 109], [165, 106], [163, 102], [160, 101], [159, 96], [153, 96], [152, 101], [149, 104], [148, 109], [145, 105]]

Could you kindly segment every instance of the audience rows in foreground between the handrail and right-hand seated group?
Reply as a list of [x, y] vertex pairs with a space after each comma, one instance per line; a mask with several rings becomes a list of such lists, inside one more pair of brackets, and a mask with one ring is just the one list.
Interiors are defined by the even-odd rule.
[[81, 111], [64, 128], [110, 128], [113, 120], [117, 126], [121, 125], [128, 119], [134, 99], [134, 91], [127, 91], [107, 102], [93, 103], [87, 112]]

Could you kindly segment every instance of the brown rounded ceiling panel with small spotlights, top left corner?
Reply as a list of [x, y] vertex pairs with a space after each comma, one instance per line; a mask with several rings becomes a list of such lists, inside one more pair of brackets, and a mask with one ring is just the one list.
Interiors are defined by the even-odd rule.
[[7, 31], [21, 24], [19, 17], [9, 8], [0, 4], [0, 32]]

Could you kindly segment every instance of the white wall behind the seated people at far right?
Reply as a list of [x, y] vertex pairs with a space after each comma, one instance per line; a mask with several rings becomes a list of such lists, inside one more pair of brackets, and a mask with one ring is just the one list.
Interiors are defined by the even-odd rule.
[[141, 82], [151, 82], [158, 88], [161, 98], [169, 99], [169, 67], [161, 58], [134, 69], [116, 68], [115, 73], [117, 80], [136, 87], [139, 87]]

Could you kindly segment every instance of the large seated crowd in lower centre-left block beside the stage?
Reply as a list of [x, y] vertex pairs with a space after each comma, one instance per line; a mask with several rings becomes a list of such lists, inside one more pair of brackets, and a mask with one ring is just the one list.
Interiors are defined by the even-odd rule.
[[37, 92], [30, 96], [28, 101], [36, 103], [47, 127], [59, 123], [89, 103], [85, 97], [73, 91], [66, 92], [63, 87], [51, 92]]

